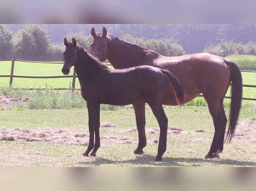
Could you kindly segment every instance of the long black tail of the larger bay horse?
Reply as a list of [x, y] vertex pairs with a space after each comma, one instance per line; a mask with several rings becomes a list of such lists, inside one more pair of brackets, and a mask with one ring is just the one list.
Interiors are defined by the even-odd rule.
[[225, 60], [226, 65], [230, 69], [230, 82], [231, 82], [231, 102], [229, 112], [229, 127], [226, 136], [226, 140], [231, 141], [234, 136], [236, 124], [238, 121], [240, 108], [242, 104], [243, 95], [243, 80], [242, 74], [236, 63]]

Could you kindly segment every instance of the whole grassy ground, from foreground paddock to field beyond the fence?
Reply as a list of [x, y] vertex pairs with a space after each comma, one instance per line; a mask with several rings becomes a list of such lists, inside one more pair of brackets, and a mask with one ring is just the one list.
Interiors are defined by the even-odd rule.
[[[11, 62], [1, 62], [0, 75], [9, 75], [10, 67]], [[16, 61], [14, 75], [60, 76], [61, 68], [62, 64]], [[256, 85], [256, 73], [242, 72], [242, 76], [243, 84]], [[214, 134], [204, 99], [198, 97], [183, 106], [164, 106], [169, 119], [167, 150], [163, 161], [154, 162], [159, 126], [149, 106], [146, 106], [144, 154], [132, 154], [138, 133], [134, 110], [129, 105], [101, 109], [101, 147], [96, 157], [84, 157], [82, 153], [89, 142], [86, 102], [79, 91], [50, 91], [71, 89], [72, 78], [13, 79], [13, 88], [48, 88], [46, 91], [14, 91], [8, 87], [9, 78], [0, 78], [0, 95], [15, 100], [7, 107], [0, 105], [0, 166], [256, 166], [255, 101], [243, 100], [235, 136], [231, 143], [224, 144], [220, 158], [214, 159], [203, 159]], [[76, 88], [80, 88], [78, 80]], [[256, 98], [254, 89], [244, 87], [243, 97]], [[80, 102], [73, 106], [66, 104], [71, 98], [73, 103]], [[30, 107], [32, 101], [39, 106]], [[47, 101], [55, 106], [44, 106]], [[227, 114], [229, 101], [224, 101]], [[58, 102], [62, 105], [56, 106]]]

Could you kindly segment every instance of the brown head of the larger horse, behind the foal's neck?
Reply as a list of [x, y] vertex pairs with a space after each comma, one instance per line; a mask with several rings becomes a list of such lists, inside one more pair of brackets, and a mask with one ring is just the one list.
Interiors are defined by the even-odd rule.
[[91, 30], [91, 36], [93, 37], [91, 43], [92, 55], [101, 62], [107, 59], [107, 34], [108, 32], [105, 27], [103, 27], [102, 33], [96, 33], [94, 28]]

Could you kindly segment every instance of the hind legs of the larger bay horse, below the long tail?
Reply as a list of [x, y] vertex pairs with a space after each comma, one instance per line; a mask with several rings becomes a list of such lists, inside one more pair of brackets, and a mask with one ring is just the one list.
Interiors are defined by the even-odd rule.
[[209, 152], [205, 158], [219, 157], [219, 152], [223, 150], [224, 136], [227, 124], [227, 117], [223, 107], [223, 98], [221, 100], [207, 100], [209, 111], [214, 123], [214, 137]]

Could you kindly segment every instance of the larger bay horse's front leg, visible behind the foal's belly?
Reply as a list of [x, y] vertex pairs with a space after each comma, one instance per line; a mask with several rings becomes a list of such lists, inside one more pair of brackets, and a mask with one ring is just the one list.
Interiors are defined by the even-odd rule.
[[146, 134], [145, 134], [145, 100], [144, 98], [139, 99], [135, 103], [133, 103], [133, 108], [136, 117], [136, 124], [139, 135], [139, 143], [138, 147], [134, 150], [134, 154], [143, 154], [143, 148], [147, 144]]

